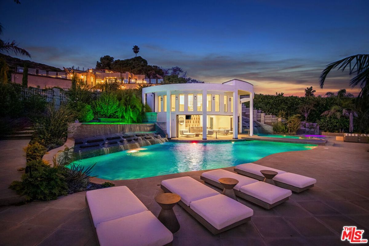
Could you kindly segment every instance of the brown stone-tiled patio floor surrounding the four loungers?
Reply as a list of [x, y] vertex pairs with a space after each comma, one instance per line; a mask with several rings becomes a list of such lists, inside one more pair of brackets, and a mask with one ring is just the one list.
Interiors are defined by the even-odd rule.
[[[240, 199], [254, 209], [251, 221], [218, 235], [208, 232], [176, 205], [181, 227], [174, 233], [173, 245], [350, 245], [340, 241], [344, 225], [364, 229], [364, 238], [369, 239], [368, 149], [368, 144], [336, 142], [335, 146], [266, 156], [256, 163], [314, 177], [317, 184], [308, 191], [292, 194], [290, 200], [270, 210]], [[200, 180], [202, 172], [114, 183], [128, 186], [157, 216], [160, 207], [153, 200], [163, 192], [161, 180], [181, 176]], [[0, 245], [97, 245], [85, 192], [54, 201], [0, 207]]]

